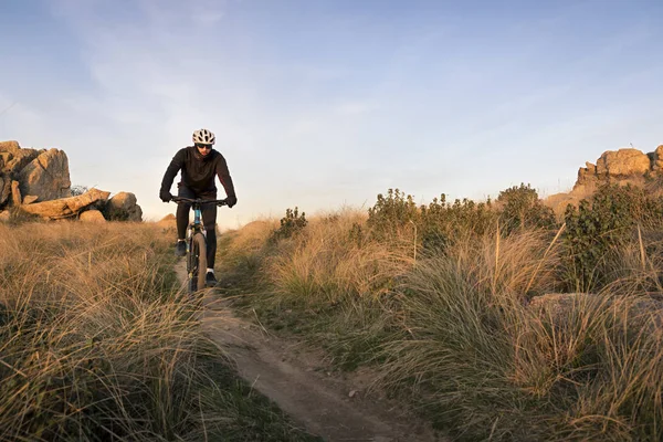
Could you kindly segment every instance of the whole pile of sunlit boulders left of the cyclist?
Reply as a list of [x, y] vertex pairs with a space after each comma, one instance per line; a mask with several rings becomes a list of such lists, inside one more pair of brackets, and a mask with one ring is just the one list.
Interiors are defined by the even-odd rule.
[[[83, 218], [141, 221], [136, 196], [92, 189], [72, 197], [69, 158], [60, 149], [21, 148], [18, 141], [0, 141], [0, 220], [10, 210], [45, 219]], [[86, 211], [98, 211], [83, 215]], [[102, 214], [103, 213], [103, 214]]]

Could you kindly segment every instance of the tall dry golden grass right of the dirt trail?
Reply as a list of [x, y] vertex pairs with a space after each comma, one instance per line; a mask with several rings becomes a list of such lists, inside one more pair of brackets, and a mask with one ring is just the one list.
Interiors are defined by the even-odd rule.
[[367, 230], [358, 213], [318, 217], [265, 244], [267, 284], [250, 299], [261, 319], [346, 368], [372, 365], [460, 440], [663, 439], [654, 230], [609, 251], [601, 293], [558, 294], [561, 230], [493, 229], [414, 255], [412, 229], [357, 242], [357, 223]]

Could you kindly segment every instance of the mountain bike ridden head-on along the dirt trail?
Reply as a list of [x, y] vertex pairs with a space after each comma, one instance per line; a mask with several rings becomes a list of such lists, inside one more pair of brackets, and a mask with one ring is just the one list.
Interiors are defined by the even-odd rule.
[[202, 206], [217, 204], [228, 206], [227, 200], [201, 200], [182, 197], [172, 197], [172, 201], [190, 202], [193, 209], [193, 222], [187, 228], [187, 275], [188, 290], [192, 295], [198, 288], [204, 287], [204, 277], [207, 271], [207, 233], [202, 225]]

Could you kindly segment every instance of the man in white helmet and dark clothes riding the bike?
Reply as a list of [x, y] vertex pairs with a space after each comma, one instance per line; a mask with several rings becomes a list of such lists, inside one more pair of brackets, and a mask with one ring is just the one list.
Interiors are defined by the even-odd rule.
[[[208, 129], [200, 129], [193, 133], [193, 146], [185, 147], [178, 150], [172, 157], [164, 179], [161, 180], [161, 189], [159, 198], [164, 202], [172, 199], [170, 187], [181, 170], [181, 180], [178, 182], [178, 197], [190, 199], [213, 200], [217, 199], [217, 186], [214, 176], [219, 177], [219, 181], [225, 190], [228, 207], [232, 208], [238, 202], [234, 192], [232, 178], [225, 164], [225, 158], [218, 151], [212, 149], [215, 137]], [[187, 254], [187, 244], [185, 235], [187, 225], [189, 224], [190, 203], [179, 203], [177, 206], [177, 243], [175, 254], [183, 256]], [[217, 254], [217, 206], [202, 206], [202, 223], [207, 234], [207, 261], [208, 269], [206, 274], [206, 285], [213, 286], [217, 284], [214, 277], [214, 259]]]

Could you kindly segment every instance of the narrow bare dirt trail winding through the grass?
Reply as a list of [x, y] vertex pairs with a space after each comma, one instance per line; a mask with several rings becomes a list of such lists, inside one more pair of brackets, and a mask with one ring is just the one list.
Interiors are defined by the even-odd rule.
[[[183, 264], [177, 271], [183, 281]], [[367, 394], [366, 377], [326, 372], [320, 355], [235, 317], [213, 291], [204, 303], [203, 327], [236, 362], [240, 376], [308, 432], [333, 442], [444, 440], [394, 402]]]

